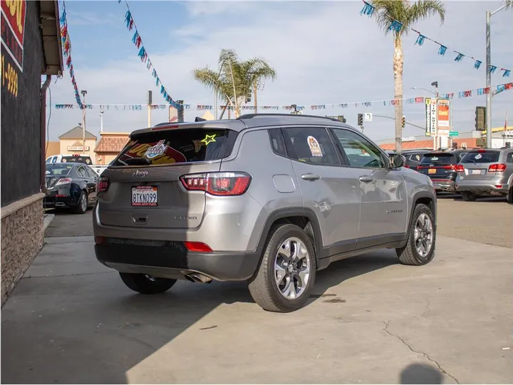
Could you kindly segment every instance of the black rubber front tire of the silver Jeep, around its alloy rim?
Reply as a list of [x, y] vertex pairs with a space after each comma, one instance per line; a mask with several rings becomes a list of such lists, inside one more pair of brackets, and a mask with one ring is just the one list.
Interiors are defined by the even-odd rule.
[[[427, 255], [422, 256], [417, 250], [417, 247], [415, 246], [415, 225], [417, 224], [418, 219], [421, 215], [427, 215], [429, 219], [431, 220], [432, 224], [432, 232], [431, 232], [431, 249], [429, 252], [427, 252]], [[423, 205], [422, 203], [419, 203], [415, 206], [415, 210], [413, 210], [413, 217], [410, 223], [410, 229], [408, 230], [408, 241], [406, 242], [406, 245], [403, 247], [400, 247], [398, 249], [395, 249], [395, 252], [397, 253], [399, 257], [399, 261], [403, 265], [411, 265], [411, 266], [421, 266], [426, 265], [427, 263], [431, 262], [432, 259], [435, 257], [435, 247], [436, 247], [436, 225], [435, 225], [435, 218], [432, 214], [432, 211], [429, 207], [426, 205]]]

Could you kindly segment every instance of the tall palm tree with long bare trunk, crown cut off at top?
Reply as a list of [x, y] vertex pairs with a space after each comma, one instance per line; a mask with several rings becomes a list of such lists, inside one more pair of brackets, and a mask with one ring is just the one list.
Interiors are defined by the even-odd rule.
[[[511, 1], [511, 0], [508, 0]], [[440, 20], [445, 19], [445, 6], [439, 0], [419, 0], [410, 3], [408, 0], [373, 0], [370, 3], [375, 11], [376, 22], [385, 35], [393, 31], [394, 37], [394, 98], [395, 102], [395, 151], [401, 151], [401, 138], [403, 137], [403, 41], [402, 37], [408, 34], [408, 27], [417, 21], [438, 15]], [[399, 21], [402, 25], [394, 23]]]

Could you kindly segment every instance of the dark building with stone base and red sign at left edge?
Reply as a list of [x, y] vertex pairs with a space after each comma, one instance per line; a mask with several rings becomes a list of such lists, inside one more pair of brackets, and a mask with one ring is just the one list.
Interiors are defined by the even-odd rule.
[[0, 17], [3, 305], [43, 246], [46, 93], [63, 59], [57, 1], [2, 0]]

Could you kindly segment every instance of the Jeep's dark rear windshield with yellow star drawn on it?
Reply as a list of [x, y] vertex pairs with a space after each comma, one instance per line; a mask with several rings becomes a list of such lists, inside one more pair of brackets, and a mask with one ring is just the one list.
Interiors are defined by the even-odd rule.
[[233, 130], [204, 128], [144, 133], [132, 138], [112, 165], [170, 165], [219, 160], [232, 152], [236, 137], [237, 132]]

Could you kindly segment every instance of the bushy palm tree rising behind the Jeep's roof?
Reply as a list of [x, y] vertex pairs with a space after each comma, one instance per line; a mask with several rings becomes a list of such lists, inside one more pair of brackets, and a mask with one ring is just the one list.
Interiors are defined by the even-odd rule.
[[276, 71], [263, 58], [241, 61], [237, 53], [231, 49], [221, 50], [218, 66], [218, 71], [208, 67], [196, 68], [194, 77], [199, 83], [212, 88], [225, 102], [222, 114], [226, 106], [230, 106], [234, 109], [235, 118], [240, 116], [241, 107], [256, 84], [263, 83], [269, 78], [271, 81], [276, 79]]

